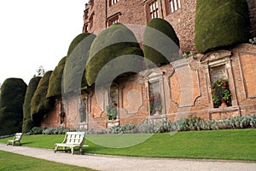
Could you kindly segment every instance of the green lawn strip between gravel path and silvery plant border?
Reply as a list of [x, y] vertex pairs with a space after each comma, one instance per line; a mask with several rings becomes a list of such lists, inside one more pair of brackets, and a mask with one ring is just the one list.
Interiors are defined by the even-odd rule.
[[[108, 148], [89, 140], [93, 135], [86, 135], [84, 152], [135, 156], [135, 157], [177, 157], [177, 158], [209, 158], [256, 161], [256, 129], [230, 129], [214, 131], [189, 131], [177, 134], [153, 134], [148, 140], [126, 148]], [[101, 135], [97, 142], [109, 142], [113, 145], [121, 143], [131, 134]], [[138, 134], [135, 135], [135, 138]], [[22, 138], [22, 145], [54, 149], [56, 142], [61, 142], [64, 135], [31, 135]], [[10, 138], [9, 138], [10, 139]], [[102, 140], [101, 140], [102, 139]], [[6, 143], [8, 139], [0, 140]], [[95, 141], [94, 141], [95, 142]], [[104, 143], [103, 143], [104, 144]], [[117, 145], [119, 146], [119, 145]]]

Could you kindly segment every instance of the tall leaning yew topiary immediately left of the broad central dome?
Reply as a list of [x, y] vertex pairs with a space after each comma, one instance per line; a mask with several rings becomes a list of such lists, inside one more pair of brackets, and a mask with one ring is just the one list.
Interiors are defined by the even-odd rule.
[[77, 92], [87, 86], [84, 77], [85, 65], [89, 58], [90, 45], [95, 37], [94, 34], [82, 33], [70, 44], [62, 77], [62, 93]]

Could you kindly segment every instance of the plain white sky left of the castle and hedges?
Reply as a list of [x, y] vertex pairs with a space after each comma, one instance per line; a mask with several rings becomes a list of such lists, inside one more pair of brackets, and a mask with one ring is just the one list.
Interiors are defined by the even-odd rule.
[[88, 0], [0, 1], [0, 84], [18, 77], [26, 84], [54, 70], [83, 29]]

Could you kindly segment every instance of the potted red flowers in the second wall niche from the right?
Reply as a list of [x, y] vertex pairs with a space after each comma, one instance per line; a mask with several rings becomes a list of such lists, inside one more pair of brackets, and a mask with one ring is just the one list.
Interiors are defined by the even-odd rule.
[[152, 95], [149, 98], [149, 111], [150, 115], [159, 115], [162, 111], [160, 94]]

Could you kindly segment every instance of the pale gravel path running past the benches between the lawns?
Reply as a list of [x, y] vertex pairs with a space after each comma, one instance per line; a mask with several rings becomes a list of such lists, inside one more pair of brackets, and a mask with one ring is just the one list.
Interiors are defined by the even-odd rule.
[[39, 149], [26, 146], [7, 146], [0, 144], [1, 151], [9, 151], [21, 155], [42, 158], [54, 162], [111, 171], [150, 171], [150, 170], [188, 170], [188, 171], [253, 171], [256, 162], [237, 162], [220, 160], [166, 159], [148, 157], [116, 157], [91, 154], [74, 154], [56, 152], [49, 149]]

